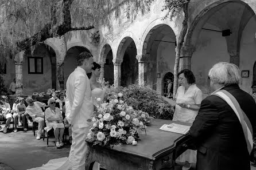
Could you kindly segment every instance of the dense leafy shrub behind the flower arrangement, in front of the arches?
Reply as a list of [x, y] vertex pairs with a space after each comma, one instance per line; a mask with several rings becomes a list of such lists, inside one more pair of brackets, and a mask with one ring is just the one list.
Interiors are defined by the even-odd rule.
[[131, 84], [128, 87], [114, 88], [113, 85], [105, 84], [106, 99], [111, 100], [117, 97], [118, 93], [123, 94], [123, 101], [134, 109], [142, 110], [156, 118], [172, 120], [174, 108], [166, 104], [161, 95], [147, 86]]

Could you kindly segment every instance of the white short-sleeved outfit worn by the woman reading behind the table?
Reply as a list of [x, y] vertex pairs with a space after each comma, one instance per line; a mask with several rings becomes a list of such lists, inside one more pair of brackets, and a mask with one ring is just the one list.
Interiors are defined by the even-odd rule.
[[[202, 101], [202, 92], [195, 84], [189, 86], [187, 92], [185, 92], [184, 86], [180, 86], [176, 94], [177, 103], [185, 104], [201, 104]], [[198, 110], [191, 110], [187, 108], [182, 108], [179, 105], [175, 106], [175, 112], [173, 114], [174, 121], [185, 121], [193, 122], [196, 118]]]

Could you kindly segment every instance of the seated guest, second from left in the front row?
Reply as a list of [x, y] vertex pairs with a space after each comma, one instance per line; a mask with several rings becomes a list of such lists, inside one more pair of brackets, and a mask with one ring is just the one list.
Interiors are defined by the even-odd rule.
[[26, 116], [25, 116], [25, 110], [26, 110], [26, 106], [24, 104], [25, 99], [24, 98], [19, 98], [20, 103], [18, 103], [16, 105], [16, 111], [17, 114], [13, 115], [14, 118], [14, 132], [17, 132], [17, 121], [18, 121], [18, 117], [20, 117], [21, 121], [22, 121], [22, 125], [23, 125], [23, 129], [24, 131], [28, 131], [28, 129], [26, 129]]

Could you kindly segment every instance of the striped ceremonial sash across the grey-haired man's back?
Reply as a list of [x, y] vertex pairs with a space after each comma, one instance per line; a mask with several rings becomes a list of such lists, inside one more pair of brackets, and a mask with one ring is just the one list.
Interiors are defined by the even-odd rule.
[[222, 98], [234, 110], [236, 116], [238, 117], [242, 125], [243, 134], [245, 135], [245, 140], [247, 143], [247, 149], [250, 154], [251, 150], [253, 149], [253, 128], [251, 126], [249, 118], [246, 116], [245, 112], [243, 112], [235, 97], [232, 96], [232, 94], [230, 94], [229, 92], [227, 92], [227, 90], [220, 90], [214, 93], [213, 95]]

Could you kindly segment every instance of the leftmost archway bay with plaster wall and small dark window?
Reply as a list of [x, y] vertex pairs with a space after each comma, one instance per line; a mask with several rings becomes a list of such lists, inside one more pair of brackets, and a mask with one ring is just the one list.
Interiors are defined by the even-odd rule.
[[33, 54], [25, 53], [23, 61], [23, 93], [56, 89], [56, 54], [50, 46], [38, 45]]

